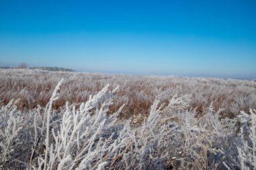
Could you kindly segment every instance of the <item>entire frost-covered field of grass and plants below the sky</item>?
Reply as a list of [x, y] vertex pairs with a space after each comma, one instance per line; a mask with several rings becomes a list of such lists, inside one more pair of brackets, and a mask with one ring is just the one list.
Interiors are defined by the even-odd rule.
[[256, 169], [255, 81], [0, 69], [0, 100], [0, 169]]

